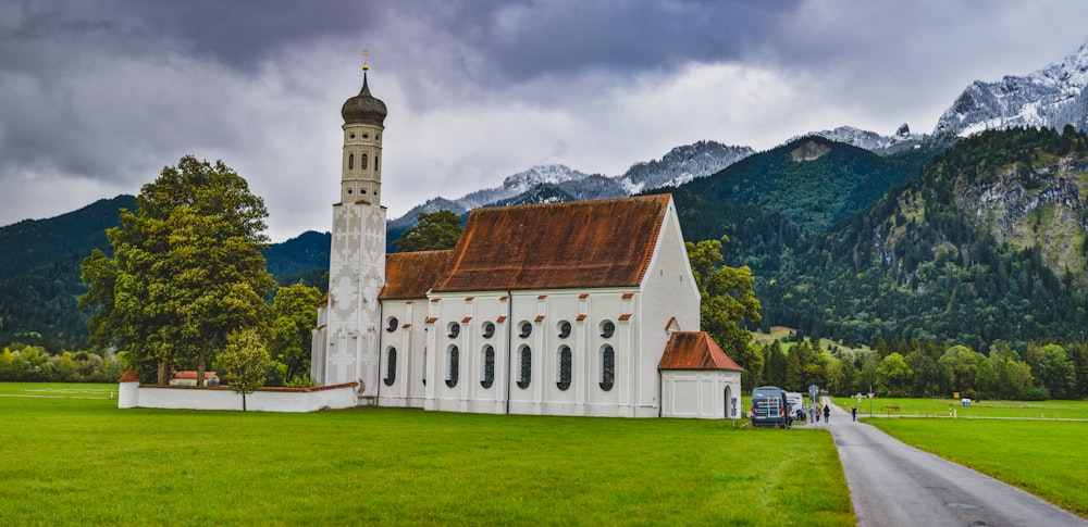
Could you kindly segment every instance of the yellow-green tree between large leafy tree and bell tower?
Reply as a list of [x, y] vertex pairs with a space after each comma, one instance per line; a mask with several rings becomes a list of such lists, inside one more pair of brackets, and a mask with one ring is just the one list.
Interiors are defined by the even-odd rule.
[[295, 284], [281, 287], [272, 300], [272, 356], [286, 366], [289, 382], [310, 374], [310, 332], [318, 324], [321, 291]]

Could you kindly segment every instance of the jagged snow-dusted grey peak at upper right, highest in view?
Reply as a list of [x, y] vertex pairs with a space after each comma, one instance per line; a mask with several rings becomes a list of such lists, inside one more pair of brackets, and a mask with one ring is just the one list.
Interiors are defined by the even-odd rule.
[[1014, 126], [1088, 129], [1086, 85], [1088, 41], [1037, 72], [972, 83], [941, 115], [935, 134], [968, 136]]

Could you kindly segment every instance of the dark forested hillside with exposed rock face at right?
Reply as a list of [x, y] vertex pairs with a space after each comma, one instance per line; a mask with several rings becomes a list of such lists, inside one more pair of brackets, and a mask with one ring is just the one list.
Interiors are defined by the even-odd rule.
[[905, 187], [782, 249], [791, 258], [757, 273], [764, 321], [848, 343], [1085, 341], [1086, 142], [1072, 128], [962, 141]]

